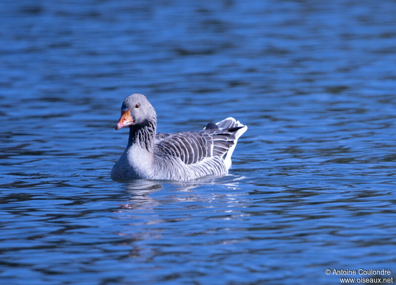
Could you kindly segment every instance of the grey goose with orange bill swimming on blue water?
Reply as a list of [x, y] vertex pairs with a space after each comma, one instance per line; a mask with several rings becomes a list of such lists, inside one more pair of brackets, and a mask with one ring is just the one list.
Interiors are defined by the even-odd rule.
[[237, 140], [247, 130], [232, 117], [200, 131], [156, 133], [156, 125], [146, 96], [133, 94], [124, 100], [115, 129], [129, 126], [129, 139], [111, 179], [190, 180], [227, 174]]

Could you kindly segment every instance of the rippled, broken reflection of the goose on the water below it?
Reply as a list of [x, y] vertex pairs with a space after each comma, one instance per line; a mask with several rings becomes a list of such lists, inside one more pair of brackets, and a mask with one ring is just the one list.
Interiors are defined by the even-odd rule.
[[[197, 219], [214, 219], [215, 228], [217, 221], [247, 219], [244, 217], [250, 214], [243, 208], [248, 206], [248, 199], [241, 199], [241, 195], [249, 195], [250, 190], [241, 192], [241, 179], [244, 177], [225, 175], [193, 181], [135, 179], [120, 184], [131, 195], [117, 211], [117, 219], [123, 225], [117, 232], [121, 245], [131, 247], [131, 258], [145, 262], [162, 254], [158, 246], [151, 245], [156, 241], [157, 245], [165, 244], [169, 232], [180, 237], [187, 227], [187, 239], [200, 234], [202, 227], [196, 224]], [[239, 239], [221, 238], [220, 242], [233, 243]]]

